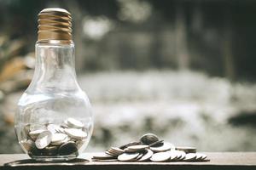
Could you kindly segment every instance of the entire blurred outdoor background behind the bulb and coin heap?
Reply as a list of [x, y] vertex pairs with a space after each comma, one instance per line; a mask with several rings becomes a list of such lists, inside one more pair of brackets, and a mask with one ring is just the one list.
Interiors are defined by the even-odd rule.
[[0, 153], [20, 153], [38, 13], [73, 15], [76, 70], [95, 114], [85, 151], [156, 133], [205, 151], [256, 150], [253, 0], [0, 0]]

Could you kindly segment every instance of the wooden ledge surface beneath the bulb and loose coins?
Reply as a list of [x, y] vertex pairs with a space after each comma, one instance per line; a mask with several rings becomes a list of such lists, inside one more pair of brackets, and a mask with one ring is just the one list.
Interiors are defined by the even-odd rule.
[[[82, 154], [78, 159], [66, 162], [32, 161], [25, 154], [0, 155], [0, 169], [250, 169], [256, 170], [256, 152], [205, 152], [210, 161], [190, 162], [120, 162], [90, 161], [93, 153]], [[88, 161], [89, 160], [89, 161]]]

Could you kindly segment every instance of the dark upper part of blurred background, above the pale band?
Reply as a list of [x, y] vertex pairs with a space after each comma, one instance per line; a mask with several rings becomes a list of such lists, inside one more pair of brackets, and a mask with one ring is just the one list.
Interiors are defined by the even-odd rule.
[[2, 0], [0, 35], [25, 40], [24, 52], [33, 51], [37, 14], [48, 7], [73, 14], [79, 72], [189, 69], [256, 77], [255, 1]]

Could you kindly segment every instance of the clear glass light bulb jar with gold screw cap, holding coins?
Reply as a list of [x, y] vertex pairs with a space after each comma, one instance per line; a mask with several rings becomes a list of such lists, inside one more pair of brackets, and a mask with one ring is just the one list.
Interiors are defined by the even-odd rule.
[[71, 20], [62, 8], [38, 14], [35, 72], [15, 115], [19, 143], [38, 161], [74, 159], [90, 142], [93, 115], [76, 78]]

